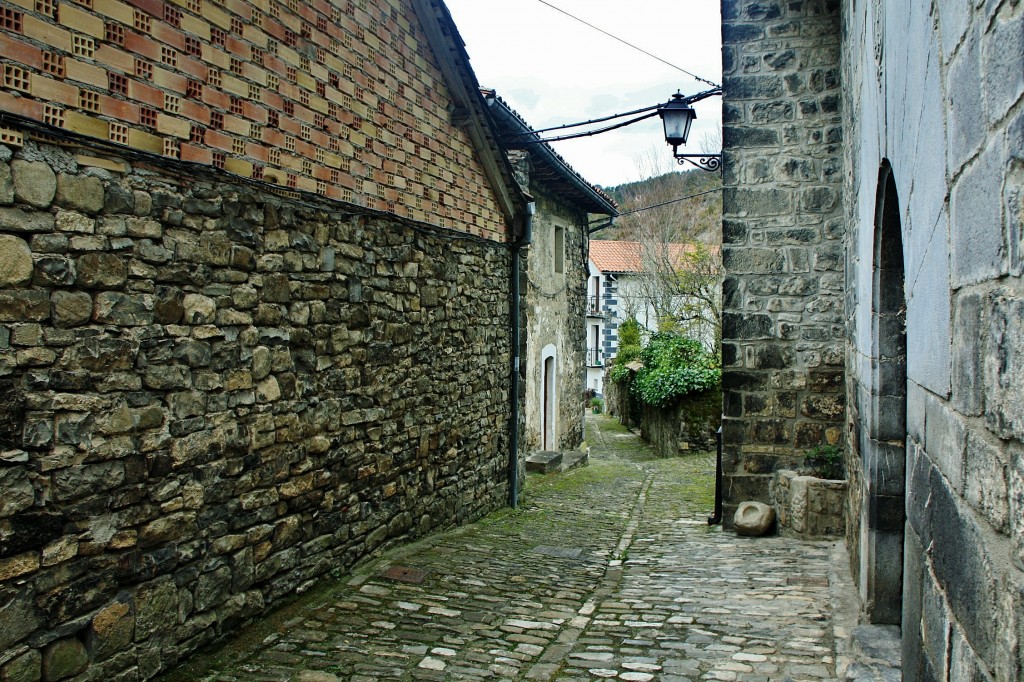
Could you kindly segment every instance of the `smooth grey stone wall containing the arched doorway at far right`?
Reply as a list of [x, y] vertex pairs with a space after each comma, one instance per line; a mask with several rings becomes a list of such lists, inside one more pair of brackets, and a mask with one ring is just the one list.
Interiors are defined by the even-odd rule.
[[855, 574], [903, 679], [1020, 680], [1024, 5], [844, 4]]

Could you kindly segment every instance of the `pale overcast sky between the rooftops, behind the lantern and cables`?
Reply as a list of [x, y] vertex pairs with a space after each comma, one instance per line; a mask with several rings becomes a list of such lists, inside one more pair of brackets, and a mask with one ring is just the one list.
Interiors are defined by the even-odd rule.
[[[665, 61], [722, 82], [720, 0], [546, 0]], [[477, 80], [497, 90], [535, 129], [623, 114], [711, 86], [627, 47], [541, 0], [445, 0]], [[721, 97], [694, 105], [685, 151], [718, 134]], [[657, 117], [552, 144], [602, 186], [679, 169]], [[682, 151], [682, 150], [681, 150]]]

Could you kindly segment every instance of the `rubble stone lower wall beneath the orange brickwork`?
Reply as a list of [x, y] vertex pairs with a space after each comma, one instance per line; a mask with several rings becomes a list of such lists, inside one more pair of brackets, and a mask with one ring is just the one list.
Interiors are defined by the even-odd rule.
[[505, 502], [505, 246], [93, 155], [0, 147], [0, 679], [150, 678]]

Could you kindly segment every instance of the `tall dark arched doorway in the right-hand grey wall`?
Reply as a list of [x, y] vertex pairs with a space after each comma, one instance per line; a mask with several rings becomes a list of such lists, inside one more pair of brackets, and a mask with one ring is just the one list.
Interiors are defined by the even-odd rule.
[[899, 197], [888, 161], [879, 170], [873, 251], [860, 583], [868, 620], [898, 625], [906, 516], [906, 298]]

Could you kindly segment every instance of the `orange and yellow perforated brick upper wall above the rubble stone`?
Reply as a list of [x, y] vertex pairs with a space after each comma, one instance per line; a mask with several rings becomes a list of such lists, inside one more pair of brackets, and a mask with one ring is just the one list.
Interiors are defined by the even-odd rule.
[[[245, 154], [234, 154], [230, 140], [203, 146], [229, 152], [243, 162], [236, 166], [243, 172], [252, 173], [279, 143], [249, 136], [249, 123], [266, 123], [304, 142], [288, 150], [280, 161], [285, 166], [268, 164], [266, 171], [280, 172], [266, 172], [266, 181], [291, 175], [297, 188], [315, 191], [317, 180], [341, 171], [340, 182], [319, 187], [326, 196], [507, 239], [471, 141], [449, 121], [446, 88], [409, 0], [269, 0], [259, 8], [244, 1], [81, 0], [59, 8], [52, 0], [11, 2], [0, 0], [3, 31], [48, 56], [37, 65], [16, 50], [0, 55], [13, 70], [4, 88], [36, 98], [38, 103], [22, 102], [19, 109], [38, 111], [41, 120], [44, 103], [59, 104], [77, 114], [69, 119], [70, 130], [106, 139], [106, 124], [152, 128], [140, 120], [139, 108], [184, 95], [188, 106], [164, 106], [183, 126], [210, 122], [213, 124], [217, 115], [244, 120], [246, 126], [224, 130], [232, 139], [245, 138]], [[75, 88], [33, 93], [26, 83], [42, 72], [66, 79], [83, 95]], [[195, 96], [195, 88], [186, 93], [193, 81], [203, 86], [202, 96]], [[86, 91], [132, 105], [96, 109], [98, 100]], [[230, 97], [245, 99], [244, 105], [231, 108]], [[164, 148], [146, 136], [132, 139], [143, 151]], [[329, 146], [333, 153], [316, 161], [315, 150]], [[312, 163], [304, 168], [303, 159]], [[361, 180], [382, 185], [383, 198], [376, 190], [368, 198], [345, 191]], [[416, 200], [423, 196], [443, 200], [445, 210], [431, 215], [419, 208]]]

